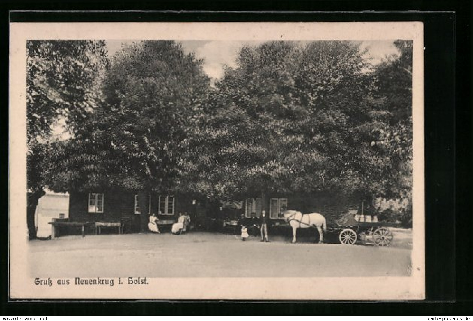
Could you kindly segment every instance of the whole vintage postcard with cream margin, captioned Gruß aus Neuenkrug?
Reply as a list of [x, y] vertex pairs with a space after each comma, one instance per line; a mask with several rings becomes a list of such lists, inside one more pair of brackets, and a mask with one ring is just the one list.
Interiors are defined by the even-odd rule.
[[10, 34], [10, 299], [424, 299], [422, 23]]

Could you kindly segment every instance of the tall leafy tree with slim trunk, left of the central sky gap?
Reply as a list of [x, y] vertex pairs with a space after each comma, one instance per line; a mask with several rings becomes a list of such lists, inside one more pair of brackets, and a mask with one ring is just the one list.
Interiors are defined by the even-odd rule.
[[209, 89], [201, 64], [173, 41], [118, 52], [105, 72], [104, 103], [63, 147], [59, 181], [76, 190], [138, 191], [145, 212], [150, 192], [178, 191], [182, 156]]

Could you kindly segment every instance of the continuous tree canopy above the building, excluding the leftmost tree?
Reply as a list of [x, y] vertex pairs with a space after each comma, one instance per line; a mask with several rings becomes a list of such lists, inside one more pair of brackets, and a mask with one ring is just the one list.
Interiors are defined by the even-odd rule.
[[80, 121], [54, 147], [51, 185], [212, 200], [324, 191], [405, 204], [412, 43], [395, 45], [400, 54], [378, 66], [357, 42], [245, 46], [213, 87], [179, 43], [125, 47], [102, 74], [94, 108], [70, 113]]

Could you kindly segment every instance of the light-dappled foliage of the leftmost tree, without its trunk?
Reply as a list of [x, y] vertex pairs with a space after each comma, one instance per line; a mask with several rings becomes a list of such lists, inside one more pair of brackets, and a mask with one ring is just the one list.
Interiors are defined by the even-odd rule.
[[[64, 117], [70, 127], [97, 104], [98, 74], [106, 64], [104, 41], [30, 40], [26, 43], [28, 143], [47, 138]], [[28, 145], [30, 146], [30, 145]]]

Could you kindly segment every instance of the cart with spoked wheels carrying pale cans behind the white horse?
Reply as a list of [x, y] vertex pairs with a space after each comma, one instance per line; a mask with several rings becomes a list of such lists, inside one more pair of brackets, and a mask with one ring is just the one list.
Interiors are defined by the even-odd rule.
[[367, 222], [356, 219], [357, 211], [349, 211], [335, 226], [328, 226], [327, 232], [338, 234], [338, 240], [342, 244], [353, 245], [357, 240], [371, 241], [377, 246], [390, 246], [393, 242], [393, 234], [389, 228], [380, 222]]

